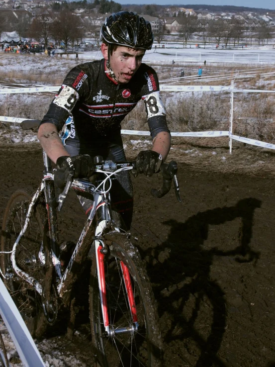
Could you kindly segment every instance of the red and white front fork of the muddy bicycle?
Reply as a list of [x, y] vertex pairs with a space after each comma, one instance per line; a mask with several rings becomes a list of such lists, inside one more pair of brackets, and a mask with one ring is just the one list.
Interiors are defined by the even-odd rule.
[[105, 282], [105, 269], [104, 269], [104, 257], [108, 253], [109, 249], [107, 248], [106, 244], [104, 244], [104, 242], [100, 239], [100, 235], [104, 230], [104, 228], [106, 227], [106, 224], [107, 220], [105, 219], [98, 223], [95, 230], [96, 239], [94, 243], [95, 243], [96, 268], [97, 268], [98, 288], [100, 295], [103, 324], [107, 336], [113, 338], [116, 334], [129, 333], [129, 332], [133, 334], [134, 332], [136, 332], [138, 330], [138, 318], [130, 273], [126, 265], [122, 261], [120, 261], [122, 277], [126, 289], [128, 304], [131, 310], [133, 323], [132, 325], [116, 329], [114, 329], [113, 326], [110, 325], [108, 316], [108, 304], [106, 296], [106, 282]]

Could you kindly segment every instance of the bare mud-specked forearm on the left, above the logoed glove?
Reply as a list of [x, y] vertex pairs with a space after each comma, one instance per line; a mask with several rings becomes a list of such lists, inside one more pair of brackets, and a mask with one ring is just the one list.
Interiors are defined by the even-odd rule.
[[59, 137], [57, 127], [54, 124], [46, 122], [40, 125], [37, 138], [47, 156], [54, 163], [61, 156], [69, 156]]

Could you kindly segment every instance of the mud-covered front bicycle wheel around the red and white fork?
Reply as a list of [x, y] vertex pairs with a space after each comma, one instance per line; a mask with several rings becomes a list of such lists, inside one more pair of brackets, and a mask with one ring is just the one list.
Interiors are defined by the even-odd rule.
[[[163, 366], [162, 337], [152, 287], [138, 250], [127, 235], [114, 232], [106, 234], [108, 254], [104, 256], [105, 282], [108, 313], [111, 326], [127, 327], [132, 324], [127, 299], [123, 300], [120, 267], [123, 261], [129, 270], [138, 312], [139, 328], [133, 335], [119, 334], [114, 338], [104, 337], [101, 305], [96, 271], [96, 257], [93, 256], [90, 279], [90, 321], [95, 364], [98, 367], [118, 366]], [[124, 289], [125, 290], [125, 289]], [[127, 296], [126, 296], [127, 298]], [[130, 321], [129, 321], [130, 320]], [[124, 322], [124, 324], [123, 324]]]

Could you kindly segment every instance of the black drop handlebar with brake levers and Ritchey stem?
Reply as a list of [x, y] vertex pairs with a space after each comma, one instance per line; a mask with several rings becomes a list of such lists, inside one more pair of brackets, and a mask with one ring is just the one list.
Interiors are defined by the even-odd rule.
[[[95, 157], [95, 161], [96, 161], [96, 158], [97, 157]], [[102, 172], [102, 171], [107, 172], [107, 173], [114, 173], [115, 171], [117, 171], [119, 169], [123, 169], [123, 168], [128, 169], [128, 170], [130, 170], [130, 169], [136, 170], [136, 161], [132, 161], [132, 162], [113, 162], [113, 161], [103, 161], [103, 160], [101, 160], [101, 161], [94, 164], [94, 173]], [[182, 202], [181, 197], [180, 197], [179, 182], [178, 182], [178, 179], [177, 179], [177, 172], [178, 172], [177, 163], [175, 161], [172, 161], [170, 163], [158, 162], [157, 165], [156, 165], [156, 172], [158, 172], [159, 170], [160, 170], [160, 172], [162, 174], [162, 177], [163, 177], [163, 185], [159, 189], [152, 188], [151, 189], [151, 194], [155, 197], [158, 197], [158, 198], [163, 197], [164, 195], [166, 195], [170, 191], [172, 181], [173, 181], [174, 186], [175, 186], [175, 193], [176, 193], [177, 200], [179, 202]], [[66, 196], [68, 194], [68, 191], [69, 191], [73, 181], [74, 181], [73, 174], [69, 173], [65, 188], [63, 189], [61, 194], [59, 194], [58, 198], [56, 199], [56, 206], [58, 205], [58, 210], [59, 211], [61, 211], [61, 209], [64, 205], [64, 201], [66, 199]]]

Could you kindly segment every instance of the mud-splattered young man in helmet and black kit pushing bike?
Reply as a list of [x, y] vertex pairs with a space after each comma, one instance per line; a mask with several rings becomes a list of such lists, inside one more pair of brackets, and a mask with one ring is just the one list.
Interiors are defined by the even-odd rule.
[[[75, 178], [92, 174], [93, 162], [86, 155], [125, 160], [120, 123], [140, 99], [145, 102], [153, 146], [138, 154], [137, 173], [152, 176], [159, 155], [165, 160], [170, 150], [158, 77], [142, 63], [154, 40], [150, 23], [137, 13], [120, 11], [105, 19], [100, 37], [103, 59], [78, 65], [67, 74], [39, 126], [42, 148], [60, 168], [55, 175], [58, 187], [64, 186], [70, 170]], [[128, 172], [117, 177], [112, 191], [129, 228], [133, 189]], [[92, 201], [79, 197], [89, 214]]]

